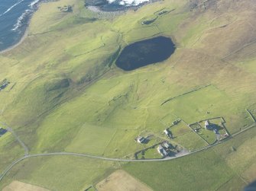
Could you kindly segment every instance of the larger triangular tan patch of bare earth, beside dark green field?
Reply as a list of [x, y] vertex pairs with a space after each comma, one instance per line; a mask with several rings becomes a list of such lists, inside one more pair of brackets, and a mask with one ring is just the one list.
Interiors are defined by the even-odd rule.
[[97, 183], [96, 189], [99, 191], [112, 190], [112, 191], [150, 191], [151, 188], [147, 187], [139, 180], [131, 177], [130, 174], [124, 170], [117, 170], [109, 177]]

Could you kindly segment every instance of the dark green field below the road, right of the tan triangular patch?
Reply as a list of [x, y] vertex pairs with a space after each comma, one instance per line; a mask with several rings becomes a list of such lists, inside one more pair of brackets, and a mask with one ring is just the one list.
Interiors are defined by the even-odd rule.
[[124, 169], [154, 190], [214, 190], [234, 176], [232, 170], [212, 151], [174, 161], [127, 164]]

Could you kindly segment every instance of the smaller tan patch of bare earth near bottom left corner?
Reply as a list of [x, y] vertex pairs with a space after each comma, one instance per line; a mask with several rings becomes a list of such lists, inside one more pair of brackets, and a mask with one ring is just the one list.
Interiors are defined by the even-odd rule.
[[5, 186], [2, 191], [49, 191], [39, 186], [34, 186], [29, 183], [21, 183], [19, 181], [13, 181], [8, 186]]

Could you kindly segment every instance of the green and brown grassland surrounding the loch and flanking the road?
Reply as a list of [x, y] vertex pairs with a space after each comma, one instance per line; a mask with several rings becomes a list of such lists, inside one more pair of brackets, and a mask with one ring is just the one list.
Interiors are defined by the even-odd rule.
[[[61, 12], [64, 5], [72, 5], [73, 12]], [[10, 82], [0, 91], [0, 121], [15, 130], [30, 154], [69, 151], [112, 158], [134, 158], [166, 140], [163, 131], [176, 119], [181, 122], [171, 127], [170, 142], [187, 151], [205, 147], [203, 138], [215, 141], [193, 132], [192, 123], [222, 117], [231, 135], [240, 132], [256, 117], [252, 5], [253, 0], [172, 0], [114, 15], [89, 11], [82, 0], [43, 3], [28, 37], [0, 54], [0, 81]], [[115, 66], [125, 46], [159, 35], [176, 43], [170, 59], [131, 72]], [[153, 138], [140, 145], [134, 142], [138, 135]], [[199, 154], [154, 164], [33, 158], [15, 166], [1, 184], [20, 180], [54, 190], [85, 189], [117, 165], [155, 190], [225, 190], [233, 183], [240, 189], [255, 177], [255, 135], [251, 129]], [[22, 155], [10, 134], [0, 137], [0, 152], [1, 170]], [[49, 169], [55, 169], [50, 177]]]

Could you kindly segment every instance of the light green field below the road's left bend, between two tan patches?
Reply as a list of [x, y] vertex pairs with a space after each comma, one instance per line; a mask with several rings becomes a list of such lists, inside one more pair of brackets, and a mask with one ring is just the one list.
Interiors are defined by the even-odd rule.
[[[38, 157], [22, 161], [1, 183], [0, 189], [12, 180], [41, 186], [50, 190], [84, 190], [98, 183], [115, 170], [118, 164], [97, 159], [70, 156]], [[22, 170], [21, 170], [22, 169]]]

